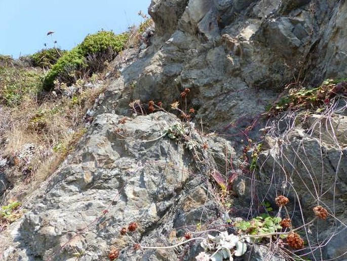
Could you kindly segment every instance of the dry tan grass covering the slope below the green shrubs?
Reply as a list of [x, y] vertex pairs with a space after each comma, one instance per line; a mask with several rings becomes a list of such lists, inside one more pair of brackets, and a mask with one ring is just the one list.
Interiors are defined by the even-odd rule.
[[[96, 78], [105, 80], [100, 74], [91, 81]], [[10, 199], [23, 200], [73, 151], [85, 133], [86, 112], [105, 90], [107, 80], [97, 86], [87, 88], [81, 84], [73, 97], [49, 93], [39, 99], [34, 92], [28, 92], [17, 106], [0, 105], [0, 157], [10, 162], [6, 175], [14, 186], [0, 199], [2, 205]], [[29, 160], [21, 156], [28, 144], [35, 148]]]

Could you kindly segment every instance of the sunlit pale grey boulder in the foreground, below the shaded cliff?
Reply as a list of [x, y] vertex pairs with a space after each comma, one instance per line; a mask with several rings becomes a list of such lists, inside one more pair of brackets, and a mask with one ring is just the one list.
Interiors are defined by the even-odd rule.
[[[223, 160], [224, 153], [235, 152], [228, 142], [201, 137], [187, 125], [183, 134], [194, 146], [189, 152], [184, 143], [177, 143], [181, 137], [163, 136], [175, 125], [183, 126], [176, 116], [163, 112], [134, 119], [99, 115], [79, 149], [36, 191], [39, 202], [27, 203], [30, 212], [20, 226], [11, 227], [19, 243], [5, 259], [72, 260], [78, 252], [100, 260], [114, 246], [126, 247], [120, 260], [176, 260], [173, 250], [134, 252], [133, 246], [139, 241], [170, 244], [170, 233], [181, 237], [185, 227], [216, 222], [220, 208], [204, 175], [192, 172], [193, 157], [210, 156], [213, 165], [214, 158]], [[204, 155], [204, 142], [219, 145]], [[137, 222], [138, 231], [121, 236], [130, 222]]]

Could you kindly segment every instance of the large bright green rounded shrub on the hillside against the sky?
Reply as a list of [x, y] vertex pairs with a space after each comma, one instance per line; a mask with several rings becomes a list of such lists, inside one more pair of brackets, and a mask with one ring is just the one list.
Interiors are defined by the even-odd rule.
[[104, 68], [104, 62], [114, 58], [128, 40], [128, 34], [114, 35], [111, 31], [98, 31], [88, 35], [71, 51], [60, 57], [44, 80], [44, 89], [54, 88], [54, 80], [72, 84], [79, 77], [92, 75]]

